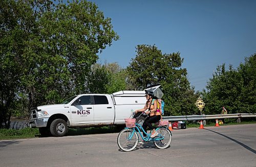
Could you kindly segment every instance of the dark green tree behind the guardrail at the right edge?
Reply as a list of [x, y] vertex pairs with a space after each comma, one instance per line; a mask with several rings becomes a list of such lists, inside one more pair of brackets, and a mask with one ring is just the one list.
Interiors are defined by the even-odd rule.
[[256, 76], [255, 54], [245, 58], [238, 69], [225, 64], [217, 66], [217, 70], [203, 91], [205, 112], [220, 114], [224, 106], [228, 113], [255, 113], [256, 111]]

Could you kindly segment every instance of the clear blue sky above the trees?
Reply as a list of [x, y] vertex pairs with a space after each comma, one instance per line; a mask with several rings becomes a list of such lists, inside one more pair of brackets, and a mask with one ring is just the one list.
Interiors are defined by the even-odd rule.
[[120, 36], [99, 61], [126, 67], [138, 44], [155, 44], [162, 53], [180, 52], [187, 78], [202, 90], [217, 65], [234, 68], [256, 53], [256, 1], [97, 1]]

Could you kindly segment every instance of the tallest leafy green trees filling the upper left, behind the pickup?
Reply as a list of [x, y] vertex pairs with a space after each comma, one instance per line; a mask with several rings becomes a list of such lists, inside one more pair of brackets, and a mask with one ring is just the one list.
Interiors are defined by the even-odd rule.
[[0, 7], [1, 117], [15, 98], [27, 100], [30, 109], [88, 91], [86, 78], [97, 53], [119, 39], [111, 19], [84, 0], [55, 5], [4, 0]]

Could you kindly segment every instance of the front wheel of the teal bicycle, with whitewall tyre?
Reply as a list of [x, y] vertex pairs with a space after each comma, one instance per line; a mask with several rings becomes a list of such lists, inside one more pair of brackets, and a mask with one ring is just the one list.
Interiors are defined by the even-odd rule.
[[123, 151], [132, 151], [138, 144], [138, 134], [133, 129], [123, 129], [117, 137], [117, 145]]

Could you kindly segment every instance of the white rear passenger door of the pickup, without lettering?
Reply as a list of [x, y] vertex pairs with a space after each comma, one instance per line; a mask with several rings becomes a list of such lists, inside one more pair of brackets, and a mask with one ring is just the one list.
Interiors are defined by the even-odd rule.
[[114, 105], [110, 97], [94, 95], [94, 123], [109, 125], [114, 122]]

